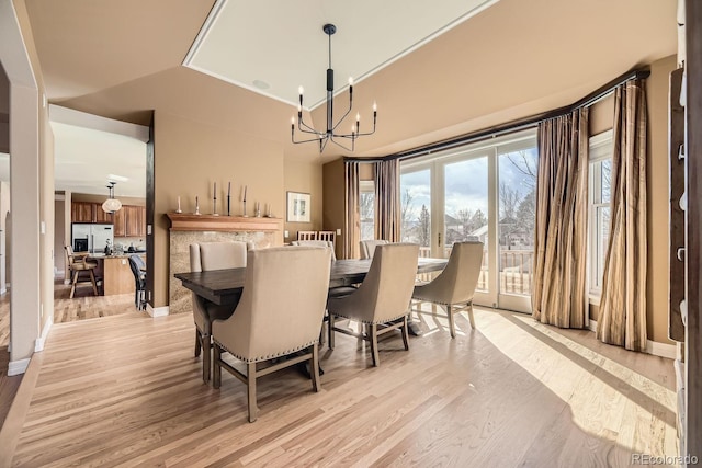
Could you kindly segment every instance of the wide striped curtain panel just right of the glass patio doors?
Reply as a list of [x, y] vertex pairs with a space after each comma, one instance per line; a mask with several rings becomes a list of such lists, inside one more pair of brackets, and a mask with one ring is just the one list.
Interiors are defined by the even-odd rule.
[[588, 109], [539, 124], [532, 316], [585, 328]]

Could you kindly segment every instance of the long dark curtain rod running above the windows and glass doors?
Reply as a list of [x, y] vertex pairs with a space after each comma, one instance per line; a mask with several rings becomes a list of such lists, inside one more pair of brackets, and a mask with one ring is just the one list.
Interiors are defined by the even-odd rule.
[[650, 70], [648, 68], [631, 70], [624, 75], [621, 75], [614, 78], [612, 81], [598, 88], [597, 90], [592, 91], [585, 98], [576, 101], [570, 105], [565, 105], [563, 107], [542, 112], [540, 114], [531, 115], [528, 117], [518, 118], [516, 121], [508, 122], [506, 124], [494, 125], [491, 127], [484, 128], [482, 130], [473, 132], [469, 134], [462, 135], [460, 137], [454, 137], [454, 138], [445, 139], [434, 144], [409, 149], [407, 151], [397, 152], [395, 155], [388, 155], [384, 158], [364, 159], [364, 158], [358, 158], [358, 157], [344, 157], [343, 160], [359, 161], [359, 162], [376, 162], [376, 161], [384, 161], [384, 160], [398, 159], [398, 158], [412, 159], [412, 158], [418, 158], [420, 156], [429, 155], [434, 151], [451, 149], [457, 146], [466, 145], [468, 142], [486, 139], [488, 137], [501, 136], [501, 135], [507, 135], [514, 132], [523, 130], [525, 128], [533, 127], [536, 124], [547, 121], [550, 118], [561, 117], [562, 115], [569, 114], [573, 111], [576, 111], [578, 109], [589, 107], [590, 105], [595, 104], [596, 102], [600, 101], [602, 98], [613, 92], [616, 89], [616, 87], [619, 87], [620, 84], [623, 84], [626, 81], [634, 80], [634, 79], [643, 80], [645, 78], [648, 78], [649, 76], [650, 76]]

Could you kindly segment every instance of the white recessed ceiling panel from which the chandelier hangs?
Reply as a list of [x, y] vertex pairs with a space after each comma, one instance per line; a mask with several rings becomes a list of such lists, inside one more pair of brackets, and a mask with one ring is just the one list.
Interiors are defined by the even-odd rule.
[[338, 27], [337, 81], [359, 83], [497, 1], [217, 0], [183, 65], [293, 106], [304, 85], [312, 110], [325, 102], [324, 24]]

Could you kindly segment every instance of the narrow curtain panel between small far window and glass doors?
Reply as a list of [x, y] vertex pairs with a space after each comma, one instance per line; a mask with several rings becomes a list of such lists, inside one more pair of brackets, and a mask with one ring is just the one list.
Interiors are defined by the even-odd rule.
[[399, 159], [375, 163], [375, 238], [400, 240]]

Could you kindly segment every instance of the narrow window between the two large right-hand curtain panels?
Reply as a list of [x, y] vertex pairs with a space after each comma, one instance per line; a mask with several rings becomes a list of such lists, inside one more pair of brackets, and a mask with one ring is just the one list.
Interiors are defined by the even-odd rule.
[[590, 138], [589, 172], [589, 279], [590, 296], [599, 298], [610, 237], [612, 130]]

